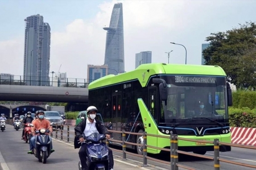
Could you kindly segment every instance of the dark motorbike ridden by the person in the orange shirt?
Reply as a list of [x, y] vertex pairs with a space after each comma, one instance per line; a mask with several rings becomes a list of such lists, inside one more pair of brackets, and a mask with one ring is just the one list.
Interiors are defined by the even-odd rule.
[[47, 158], [51, 155], [52, 139], [48, 134], [46, 134], [49, 133], [48, 129], [39, 129], [36, 130], [35, 133], [39, 135], [36, 135], [34, 155], [38, 158], [39, 162], [43, 162], [43, 164], [45, 164]]

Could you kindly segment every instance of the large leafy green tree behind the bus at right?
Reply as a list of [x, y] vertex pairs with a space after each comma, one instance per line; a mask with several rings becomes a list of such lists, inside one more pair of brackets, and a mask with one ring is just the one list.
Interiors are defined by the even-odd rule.
[[211, 33], [203, 51], [205, 65], [221, 66], [238, 88], [256, 87], [256, 24], [246, 22], [226, 32]]

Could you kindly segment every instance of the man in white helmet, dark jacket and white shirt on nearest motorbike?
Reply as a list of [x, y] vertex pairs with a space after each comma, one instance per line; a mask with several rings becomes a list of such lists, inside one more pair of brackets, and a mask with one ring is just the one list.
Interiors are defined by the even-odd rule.
[[[89, 136], [90, 134], [94, 133], [95, 131], [98, 131], [100, 134], [106, 134], [105, 133], [105, 126], [102, 124], [101, 121], [95, 120], [94, 118], [96, 117], [97, 113], [97, 108], [94, 106], [90, 106], [87, 108], [87, 118], [82, 120], [75, 128], [76, 136], [79, 138], [80, 142], [84, 142], [84, 137], [82, 134], [84, 134], [86, 137]], [[106, 138], [110, 138], [109, 134], [106, 134]], [[86, 150], [85, 150], [86, 144], [83, 143], [81, 145], [81, 148], [79, 150], [79, 158], [81, 161], [82, 165], [82, 170], [87, 169], [86, 165]], [[113, 152], [109, 150], [109, 169], [113, 170], [114, 168], [114, 159], [113, 159]]]

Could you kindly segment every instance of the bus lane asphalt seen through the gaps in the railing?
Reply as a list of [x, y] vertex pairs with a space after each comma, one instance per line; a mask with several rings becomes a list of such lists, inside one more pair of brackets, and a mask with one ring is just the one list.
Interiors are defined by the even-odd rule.
[[[69, 130], [70, 130], [70, 133], [69, 133], [70, 141], [73, 142], [74, 133], [75, 133], [74, 127], [69, 126]], [[53, 137], [55, 137], [55, 132], [53, 132]], [[60, 131], [58, 131], [58, 138], [60, 138]], [[67, 139], [67, 126], [66, 125], [64, 126], [64, 130], [63, 130], [63, 139]], [[121, 150], [121, 147], [116, 147], [116, 146], [113, 146], [113, 147]], [[127, 151], [135, 153], [133, 150], [127, 150]], [[114, 154], [122, 156], [122, 153], [120, 153], [120, 152], [114, 152]], [[213, 152], [207, 152], [207, 154], [205, 154], [205, 155], [213, 156], [213, 154], [214, 154]], [[155, 159], [160, 159], [160, 160], [170, 162], [170, 155], [168, 155], [168, 154], [160, 154], [160, 155], [148, 154], [148, 156], [151, 156], [152, 158], [155, 158]], [[127, 154], [127, 158], [133, 159], [133, 160], [138, 160], [139, 162], [143, 162], [143, 159], [139, 158], [138, 156]], [[213, 165], [214, 165], [213, 160], [196, 158], [194, 156], [187, 156], [187, 155], [182, 155], [182, 156], [179, 155], [179, 158], [180, 158], [179, 163], [186, 165], [188, 167], [192, 167], [195, 169], [201, 169], [201, 170], [214, 169], [213, 168]], [[245, 149], [245, 148], [232, 147], [232, 151], [230, 151], [230, 152], [220, 152], [220, 158], [232, 160], [232, 161], [235, 161], [238, 163], [243, 163], [243, 164], [256, 165], [256, 151]], [[164, 169], [170, 169], [169, 168], [170, 165], [155, 162], [152, 160], [148, 160], [148, 164], [156, 165], [156, 166], [164, 168]], [[240, 165], [224, 163], [224, 162], [220, 162], [220, 166], [221, 166], [221, 169], [227, 169], [227, 170], [254, 169], [254, 168], [242, 167]]]

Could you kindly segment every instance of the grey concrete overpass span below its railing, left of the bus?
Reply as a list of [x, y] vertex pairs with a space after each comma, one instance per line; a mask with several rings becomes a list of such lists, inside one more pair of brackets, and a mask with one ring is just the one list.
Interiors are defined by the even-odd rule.
[[88, 103], [88, 88], [0, 84], [0, 101]]

